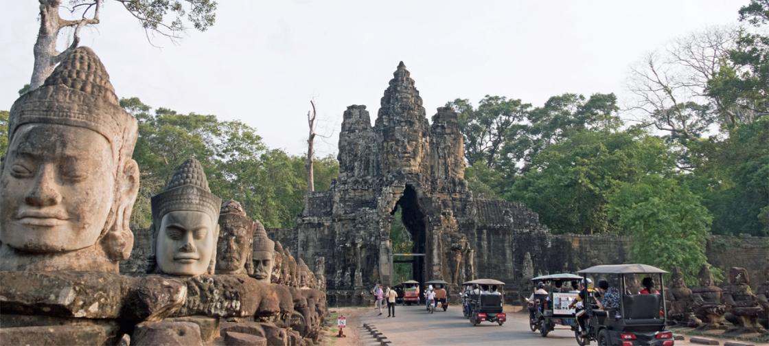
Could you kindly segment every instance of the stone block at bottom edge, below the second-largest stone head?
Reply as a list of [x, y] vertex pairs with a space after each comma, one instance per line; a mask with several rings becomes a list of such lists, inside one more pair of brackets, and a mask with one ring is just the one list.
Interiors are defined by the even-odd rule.
[[131, 346], [199, 344], [203, 344], [200, 327], [192, 322], [144, 322], [131, 334]]

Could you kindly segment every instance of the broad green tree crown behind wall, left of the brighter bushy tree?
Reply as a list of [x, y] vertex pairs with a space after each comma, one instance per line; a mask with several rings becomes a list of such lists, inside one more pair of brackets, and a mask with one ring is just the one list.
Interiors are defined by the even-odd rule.
[[523, 201], [556, 233], [617, 232], [607, 215], [611, 192], [645, 175], [670, 175], [674, 165], [661, 138], [582, 131], [535, 156], [508, 199]]

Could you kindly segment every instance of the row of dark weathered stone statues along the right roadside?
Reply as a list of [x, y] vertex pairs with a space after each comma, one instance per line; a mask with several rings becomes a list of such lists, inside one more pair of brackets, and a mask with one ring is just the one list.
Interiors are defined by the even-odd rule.
[[[711, 269], [702, 265], [699, 285], [688, 288], [679, 268], [671, 274], [666, 291], [669, 316], [681, 324], [699, 329], [725, 329], [729, 333], [766, 333], [769, 328], [769, 264], [766, 281], [751, 290], [745, 268], [732, 267], [728, 279], [717, 286]], [[729, 322], [728, 326], [724, 322]]]

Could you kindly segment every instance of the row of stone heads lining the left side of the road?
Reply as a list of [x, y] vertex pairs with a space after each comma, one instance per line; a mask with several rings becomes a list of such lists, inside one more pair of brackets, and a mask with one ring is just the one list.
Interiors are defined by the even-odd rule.
[[[104, 65], [90, 48], [76, 48], [44, 85], [19, 97], [8, 118], [8, 151], [0, 153], [5, 154], [0, 163], [0, 271], [112, 275], [131, 287], [115, 294], [140, 292], [135, 296], [139, 301], [152, 299], [141, 293], [140, 281], [118, 274], [118, 263], [129, 258], [134, 245], [129, 220], [139, 189], [139, 167], [131, 158], [137, 139], [137, 119], [120, 106]], [[220, 319], [245, 323], [248, 317], [250, 323], [266, 323], [258, 326], [262, 334], [281, 330], [278, 342], [288, 342], [285, 334], [291, 328], [307, 329], [301, 338], [311, 335], [310, 326], [319, 328], [325, 314], [323, 259], [316, 259], [316, 278], [304, 261], [269, 239], [264, 226], [248, 218], [237, 201], [222, 203], [211, 193], [197, 160], [176, 169], [164, 191], [151, 198], [151, 213], [148, 274], [178, 278], [164, 287], [181, 297], [155, 302], [166, 306], [154, 310], [155, 321], [202, 314], [217, 321], [218, 334]], [[12, 298], [0, 298], [7, 299]], [[119, 305], [131, 299], [112, 301]], [[11, 306], [4, 305], [4, 313]], [[132, 311], [113, 310], [98, 316], [120, 320], [116, 314]], [[55, 314], [34, 304], [17, 312], [26, 311]], [[295, 327], [297, 318], [306, 320], [303, 327]]]

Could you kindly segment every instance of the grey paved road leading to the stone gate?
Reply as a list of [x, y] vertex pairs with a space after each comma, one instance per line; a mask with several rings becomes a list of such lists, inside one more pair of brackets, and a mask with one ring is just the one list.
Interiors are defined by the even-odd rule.
[[[378, 316], [375, 311], [366, 309], [361, 314], [361, 322], [374, 324], [379, 331], [392, 341], [394, 346], [403, 345], [548, 345], [576, 346], [574, 333], [569, 329], [555, 330], [542, 338], [528, 328], [525, 314], [508, 313], [508, 321], [502, 326], [484, 322], [477, 327], [462, 317], [457, 305], [448, 311], [435, 311], [428, 314], [424, 307], [395, 308], [396, 318], [387, 318], [387, 312]], [[566, 327], [562, 327], [566, 328]], [[595, 343], [592, 343], [595, 344]], [[688, 342], [676, 341], [676, 345]]]

